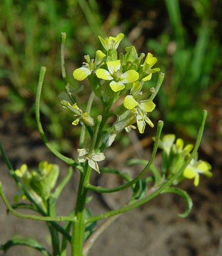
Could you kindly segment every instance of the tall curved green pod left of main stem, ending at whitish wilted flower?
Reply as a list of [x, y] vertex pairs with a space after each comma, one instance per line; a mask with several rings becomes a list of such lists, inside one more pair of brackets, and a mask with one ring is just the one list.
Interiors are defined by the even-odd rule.
[[40, 95], [42, 92], [42, 85], [43, 85], [43, 80], [45, 77], [45, 72], [46, 72], [46, 67], [41, 67], [40, 68], [40, 74], [39, 74], [39, 83], [37, 86], [37, 93], [36, 93], [36, 106], [35, 106], [35, 113], [36, 113], [36, 122], [37, 122], [37, 128], [39, 129], [39, 133], [42, 137], [43, 142], [45, 143], [45, 145], [47, 146], [47, 148], [54, 154], [56, 155], [58, 158], [60, 158], [62, 161], [64, 161], [65, 163], [69, 164], [70, 166], [74, 166], [77, 169], [79, 169], [80, 171], [82, 171], [82, 167], [76, 163], [76, 161], [74, 161], [71, 158], [65, 157], [64, 155], [62, 155], [60, 152], [57, 151], [57, 149], [55, 149], [48, 141], [48, 139], [45, 136], [45, 133], [42, 129], [42, 124], [40, 122], [40, 111], [39, 111], [39, 106], [40, 106]]

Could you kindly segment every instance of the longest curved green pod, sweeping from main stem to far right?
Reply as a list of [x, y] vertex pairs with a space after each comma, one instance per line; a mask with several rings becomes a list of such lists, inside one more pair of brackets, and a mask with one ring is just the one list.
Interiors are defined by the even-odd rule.
[[185, 164], [183, 164], [183, 166], [179, 169], [179, 171], [177, 171], [177, 173], [173, 177], [171, 177], [170, 180], [168, 180], [167, 182], [163, 183], [154, 192], [152, 192], [151, 194], [145, 196], [145, 198], [139, 199], [136, 202], [132, 202], [132, 203], [130, 203], [130, 204], [124, 206], [124, 207], [121, 207], [121, 208], [117, 209], [117, 210], [108, 211], [107, 213], [102, 213], [102, 214], [99, 214], [98, 216], [90, 217], [90, 218], [88, 218], [86, 220], [86, 223], [89, 223], [89, 222], [92, 222], [92, 221], [102, 220], [104, 218], [108, 218], [108, 217], [114, 216], [116, 214], [123, 214], [123, 213], [126, 213], [127, 211], [133, 210], [133, 209], [139, 207], [140, 205], [143, 205], [146, 202], [150, 201], [151, 199], [155, 198], [162, 191], [164, 191], [164, 189], [166, 189], [169, 186], [171, 186], [172, 183], [174, 182], [174, 180], [176, 180], [180, 175], [183, 174], [183, 171], [185, 170], [185, 168], [188, 166], [188, 164], [193, 159], [193, 157], [195, 157], [196, 152], [198, 151], [199, 145], [201, 143], [201, 138], [202, 138], [202, 135], [203, 135], [203, 132], [204, 132], [204, 125], [205, 125], [206, 118], [207, 118], [207, 110], [204, 110], [203, 118], [202, 118], [202, 124], [201, 124], [201, 127], [199, 129], [198, 137], [196, 139], [196, 143], [195, 143], [195, 146], [193, 148], [193, 151], [190, 154], [190, 157], [185, 162]]

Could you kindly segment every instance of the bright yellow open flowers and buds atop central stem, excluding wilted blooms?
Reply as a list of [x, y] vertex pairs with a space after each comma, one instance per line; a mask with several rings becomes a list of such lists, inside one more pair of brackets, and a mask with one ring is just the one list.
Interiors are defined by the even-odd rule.
[[[96, 51], [95, 61], [90, 60], [89, 56], [85, 56], [86, 63], [74, 70], [73, 76], [77, 80], [89, 77], [95, 94], [102, 95], [102, 102], [114, 102], [121, 95], [126, 95], [123, 101], [126, 113], [117, 113], [117, 120], [120, 123], [115, 123], [115, 127], [121, 126], [124, 119], [124, 127], [121, 126], [119, 131], [123, 129], [129, 131], [130, 128], [135, 128], [133, 123], [137, 123], [139, 132], [143, 133], [146, 123], [151, 127], [154, 126], [147, 117], [147, 113], [154, 110], [155, 104], [150, 99], [146, 99], [148, 93], [142, 93], [142, 86], [145, 81], [151, 80], [152, 73], [160, 71], [160, 68], [152, 68], [157, 62], [157, 58], [153, 57], [151, 53], [148, 53], [143, 62], [145, 54], [140, 54], [138, 57], [135, 46], [127, 47], [126, 54], [120, 54], [118, 57], [117, 48], [123, 37], [122, 33], [116, 38], [110, 36], [102, 39], [99, 36], [102, 46], [107, 51], [106, 54]], [[97, 86], [93, 83], [97, 83]], [[104, 83], [103, 88], [102, 83]], [[96, 92], [96, 88], [102, 90], [102, 93]], [[127, 95], [127, 92], [130, 94]]]

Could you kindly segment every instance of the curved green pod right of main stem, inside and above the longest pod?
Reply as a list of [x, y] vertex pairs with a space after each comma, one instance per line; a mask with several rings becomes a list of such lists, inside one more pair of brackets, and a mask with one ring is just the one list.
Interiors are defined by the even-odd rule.
[[154, 161], [155, 155], [157, 153], [157, 149], [158, 149], [158, 143], [160, 140], [160, 135], [161, 135], [161, 130], [162, 130], [162, 126], [164, 125], [163, 121], [159, 121], [158, 122], [158, 126], [157, 126], [157, 136], [155, 139], [155, 143], [154, 143], [154, 149], [152, 151], [151, 154], [151, 158], [148, 162], [148, 164], [146, 165], [146, 167], [143, 169], [143, 171], [133, 180], [130, 180], [130, 182], [127, 182], [123, 185], [114, 187], [114, 188], [103, 188], [101, 186], [93, 186], [91, 184], [87, 184], [86, 188], [92, 191], [96, 191], [99, 193], [112, 193], [112, 192], [117, 192], [117, 191], [121, 191], [123, 189], [129, 188], [130, 186], [134, 185], [136, 182], [138, 182], [140, 179], [142, 179], [142, 177], [147, 173], [147, 171], [149, 170], [149, 167], [151, 167], [152, 162]]

